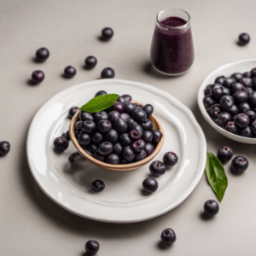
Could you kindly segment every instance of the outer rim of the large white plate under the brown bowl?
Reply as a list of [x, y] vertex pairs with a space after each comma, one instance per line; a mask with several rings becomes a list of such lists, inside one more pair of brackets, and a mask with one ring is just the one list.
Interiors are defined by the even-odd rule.
[[[55, 200], [55, 197], [52, 196], [50, 194], [50, 192], [48, 191], [48, 189], [44, 186], [44, 183], [40, 182], [40, 179], [38, 179], [37, 177], [37, 172], [34, 169], [33, 165], [32, 165], [32, 161], [29, 158], [29, 144], [30, 144], [30, 138], [32, 137], [32, 129], [33, 126], [35, 125], [35, 123], [37, 122], [38, 117], [40, 117], [41, 112], [44, 112], [44, 108], [47, 108], [47, 106], [51, 103], [54, 102], [57, 98], [59, 98], [63, 93], [65, 94], [67, 91], [72, 90], [74, 88], [79, 88], [79, 87], [84, 87], [84, 86], [89, 86], [92, 84], [108, 84], [108, 83], [121, 83], [121, 84], [132, 84], [133, 86], [139, 86], [142, 87], [145, 90], [150, 90], [150, 91], [156, 91], [160, 93], [160, 96], [165, 97], [168, 101], [172, 102], [173, 104], [175, 104], [175, 106], [177, 108], [180, 108], [183, 113], [186, 113], [186, 115], [188, 116], [188, 118], [190, 119], [191, 123], [193, 124], [193, 126], [195, 127], [195, 131], [197, 132], [199, 138], [200, 138], [200, 145], [202, 148], [202, 152], [205, 152], [205, 154], [201, 154], [200, 158], [199, 158], [199, 168], [197, 171], [197, 175], [195, 176], [195, 179], [193, 180], [193, 183], [191, 183], [190, 187], [189, 187], [189, 191], [183, 195], [183, 197], [177, 201], [175, 204], [173, 204], [171, 207], [166, 207], [165, 209], [163, 209], [160, 212], [156, 212], [154, 214], [151, 215], [147, 215], [145, 217], [142, 218], [122, 218], [122, 219], [117, 219], [117, 220], [113, 220], [113, 219], [108, 219], [108, 218], [92, 218], [91, 216], [86, 215], [86, 212], [84, 212], [84, 214], [81, 214], [80, 212], [76, 212], [74, 211], [72, 208], [67, 207], [65, 204], [61, 204], [61, 201], [57, 201]], [[91, 81], [86, 81], [84, 83], [80, 83], [80, 84], [75, 84], [72, 85], [64, 90], [61, 90], [59, 92], [57, 92], [54, 96], [51, 96], [49, 98], [49, 100], [47, 100], [46, 102], [44, 102], [44, 104], [38, 109], [37, 113], [35, 113], [32, 122], [29, 126], [28, 129], [28, 133], [27, 133], [27, 138], [26, 138], [26, 159], [28, 162], [28, 166], [32, 172], [32, 177], [34, 178], [34, 180], [36, 181], [36, 183], [38, 184], [38, 187], [40, 189], [42, 189], [42, 191], [44, 192], [45, 195], [47, 195], [49, 197], [50, 200], [54, 201], [58, 206], [64, 208], [65, 210], [67, 210], [68, 212], [72, 212], [75, 215], [78, 215], [82, 218], [88, 218], [91, 220], [96, 220], [96, 221], [100, 221], [100, 222], [108, 222], [108, 223], [137, 223], [137, 222], [142, 222], [151, 218], [156, 218], [166, 212], [171, 211], [173, 208], [177, 207], [178, 205], [180, 205], [186, 198], [188, 198], [188, 196], [194, 191], [195, 187], [197, 186], [197, 184], [200, 182], [201, 177], [204, 173], [204, 169], [205, 169], [205, 165], [206, 165], [206, 161], [207, 161], [207, 141], [206, 141], [206, 137], [204, 132], [201, 129], [201, 125], [199, 125], [199, 123], [197, 122], [197, 120], [195, 119], [195, 115], [194, 113], [192, 113], [192, 111], [185, 106], [182, 102], [179, 102], [174, 96], [170, 95], [169, 93], [165, 92], [164, 90], [160, 90], [159, 88], [154, 87], [153, 85], [149, 85], [149, 84], [145, 84], [145, 83], [141, 83], [141, 82], [136, 82], [136, 81], [131, 81], [131, 80], [125, 80], [125, 79], [99, 79], [99, 80], [91, 80]]]

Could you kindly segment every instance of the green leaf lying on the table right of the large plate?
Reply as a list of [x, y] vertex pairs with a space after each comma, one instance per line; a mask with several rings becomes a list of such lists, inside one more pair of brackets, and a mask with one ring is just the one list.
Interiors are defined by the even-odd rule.
[[228, 178], [226, 177], [224, 166], [212, 153], [207, 153], [206, 174], [212, 190], [218, 196], [218, 200], [222, 201], [225, 190], [228, 187]]

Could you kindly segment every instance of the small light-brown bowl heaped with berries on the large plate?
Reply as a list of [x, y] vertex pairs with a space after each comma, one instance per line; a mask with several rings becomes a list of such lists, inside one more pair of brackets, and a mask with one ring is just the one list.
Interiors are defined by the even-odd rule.
[[[133, 103], [138, 103], [140, 105], [143, 105], [140, 102], [135, 102], [132, 101]], [[87, 154], [84, 149], [79, 145], [77, 138], [75, 137], [75, 124], [77, 123], [79, 119], [79, 112], [75, 113], [75, 115], [73, 116], [73, 119], [71, 120], [70, 126], [69, 126], [69, 135], [70, 138], [74, 144], [74, 146], [79, 150], [79, 153], [81, 155], [84, 156], [84, 158], [86, 158], [87, 160], [89, 160], [92, 164], [102, 167], [104, 169], [108, 169], [108, 170], [113, 170], [113, 171], [129, 171], [129, 170], [134, 170], [137, 169], [141, 166], [144, 166], [146, 164], [148, 164], [148, 162], [150, 162], [151, 160], [154, 159], [154, 157], [156, 156], [156, 154], [159, 153], [160, 148], [162, 148], [163, 143], [164, 143], [164, 130], [162, 128], [162, 125], [160, 125], [160, 121], [154, 116], [154, 114], [152, 114], [150, 117], [148, 117], [149, 120], [151, 120], [151, 122], [154, 125], [154, 129], [159, 130], [162, 132], [163, 137], [161, 138], [160, 142], [157, 144], [156, 148], [154, 148], [154, 152], [152, 154], [150, 154], [148, 157], [146, 157], [145, 159], [135, 162], [135, 163], [131, 163], [131, 164], [127, 164], [127, 165], [111, 165], [111, 164], [107, 164], [104, 163], [100, 160], [96, 160], [94, 157], [92, 157], [90, 154]]]

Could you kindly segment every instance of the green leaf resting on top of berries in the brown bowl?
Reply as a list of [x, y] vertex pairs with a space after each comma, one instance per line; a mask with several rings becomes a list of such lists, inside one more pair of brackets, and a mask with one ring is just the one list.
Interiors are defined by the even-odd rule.
[[118, 97], [119, 95], [117, 94], [105, 94], [96, 96], [95, 98], [91, 99], [90, 102], [87, 102], [82, 108], [80, 108], [80, 110], [89, 113], [102, 111], [104, 109], [110, 108]]

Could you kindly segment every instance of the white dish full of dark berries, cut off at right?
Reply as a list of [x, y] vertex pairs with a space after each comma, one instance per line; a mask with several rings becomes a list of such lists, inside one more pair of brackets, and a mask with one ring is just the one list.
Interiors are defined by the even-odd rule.
[[224, 135], [225, 137], [230, 138], [231, 140], [234, 140], [239, 143], [247, 143], [247, 144], [256, 144], [256, 138], [254, 137], [241, 137], [239, 135], [233, 134], [230, 131], [226, 131], [217, 124], [214, 123], [214, 121], [211, 119], [209, 114], [207, 113], [207, 109], [205, 108], [203, 104], [203, 97], [205, 96], [204, 90], [207, 87], [208, 84], [213, 84], [214, 80], [221, 75], [224, 75], [225, 77], [230, 77], [233, 73], [245, 73], [247, 71], [251, 71], [253, 67], [256, 67], [256, 60], [244, 60], [244, 61], [236, 61], [232, 62], [230, 64], [226, 64], [222, 67], [218, 67], [215, 69], [212, 73], [210, 73], [206, 79], [204, 79], [203, 83], [201, 84], [201, 87], [197, 94], [197, 104], [201, 110], [201, 113], [203, 117], [207, 120], [207, 122], [212, 125], [212, 127], [218, 131], [220, 134]]

